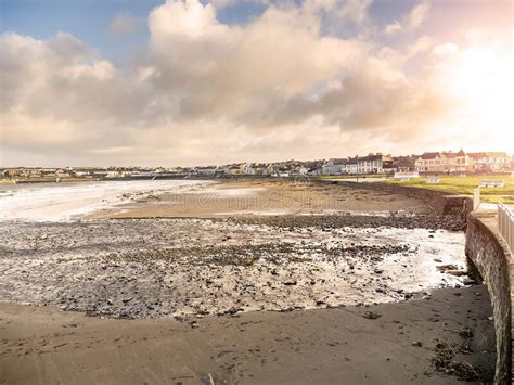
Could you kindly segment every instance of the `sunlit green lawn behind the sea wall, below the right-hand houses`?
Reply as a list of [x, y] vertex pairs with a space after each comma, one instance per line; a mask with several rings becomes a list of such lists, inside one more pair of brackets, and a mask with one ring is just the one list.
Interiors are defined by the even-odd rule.
[[505, 187], [481, 188], [480, 196], [483, 202], [514, 204], [514, 178], [510, 176], [439, 177], [439, 184], [428, 184], [426, 182], [427, 178], [415, 178], [410, 181], [388, 179], [386, 182], [472, 195], [473, 190], [485, 179], [503, 180]]

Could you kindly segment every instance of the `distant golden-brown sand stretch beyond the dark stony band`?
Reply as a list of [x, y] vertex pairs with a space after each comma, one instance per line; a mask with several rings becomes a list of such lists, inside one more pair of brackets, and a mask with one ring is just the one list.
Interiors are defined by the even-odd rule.
[[[233, 216], [330, 214], [426, 214], [420, 200], [388, 192], [345, 189], [308, 181], [223, 181], [178, 189], [179, 192], [133, 195], [132, 203], [99, 211], [93, 218], [213, 218]], [[127, 194], [130, 197], [130, 194]]]

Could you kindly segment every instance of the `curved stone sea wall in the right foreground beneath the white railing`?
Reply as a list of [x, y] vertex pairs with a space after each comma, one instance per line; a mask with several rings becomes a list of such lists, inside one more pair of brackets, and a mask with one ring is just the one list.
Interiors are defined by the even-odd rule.
[[494, 211], [477, 210], [468, 215], [466, 256], [471, 272], [480, 274], [492, 303], [497, 346], [494, 383], [511, 384], [514, 261], [498, 233]]

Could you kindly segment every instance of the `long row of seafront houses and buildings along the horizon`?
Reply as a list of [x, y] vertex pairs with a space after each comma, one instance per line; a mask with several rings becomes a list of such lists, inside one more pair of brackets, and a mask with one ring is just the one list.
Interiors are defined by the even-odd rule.
[[423, 174], [501, 172], [514, 169], [514, 162], [504, 152], [426, 152], [422, 155], [391, 156], [381, 153], [327, 161], [284, 161], [277, 163], [237, 163], [201, 167], [106, 167], [106, 168], [0, 168], [8, 179], [44, 178], [153, 178], [153, 177], [230, 177], [298, 175], [369, 175], [417, 171]]

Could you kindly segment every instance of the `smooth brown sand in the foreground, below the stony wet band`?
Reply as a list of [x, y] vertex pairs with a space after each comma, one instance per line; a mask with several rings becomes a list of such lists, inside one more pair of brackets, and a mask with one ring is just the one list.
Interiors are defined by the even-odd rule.
[[208, 317], [194, 326], [2, 304], [0, 383], [480, 383], [492, 375], [490, 315], [484, 286], [401, 304]]

